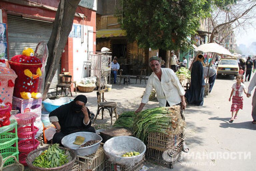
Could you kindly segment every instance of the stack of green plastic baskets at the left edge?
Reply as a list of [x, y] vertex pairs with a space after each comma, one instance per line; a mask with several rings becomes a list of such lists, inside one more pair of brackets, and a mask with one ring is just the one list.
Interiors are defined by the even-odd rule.
[[[15, 156], [17, 160], [19, 160], [19, 150], [17, 144], [17, 122], [15, 119], [12, 119], [10, 125], [3, 126], [0, 128], [0, 153], [3, 157], [3, 160], [5, 160], [8, 156]], [[13, 163], [15, 163], [14, 158], [10, 158], [6, 160], [4, 166]]]

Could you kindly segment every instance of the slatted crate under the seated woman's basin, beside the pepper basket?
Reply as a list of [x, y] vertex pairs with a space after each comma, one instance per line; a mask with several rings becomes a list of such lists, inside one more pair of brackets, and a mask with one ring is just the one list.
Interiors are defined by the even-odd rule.
[[103, 143], [99, 149], [87, 156], [77, 156], [71, 171], [103, 171], [105, 169], [106, 155], [103, 150]]

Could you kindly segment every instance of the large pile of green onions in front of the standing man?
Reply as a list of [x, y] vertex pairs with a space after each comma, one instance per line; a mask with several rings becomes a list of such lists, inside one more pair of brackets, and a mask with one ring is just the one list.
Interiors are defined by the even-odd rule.
[[124, 112], [119, 116], [114, 127], [132, 129], [133, 135], [143, 142], [146, 142], [150, 132], [178, 134], [186, 125], [178, 107], [158, 107], [137, 114]]

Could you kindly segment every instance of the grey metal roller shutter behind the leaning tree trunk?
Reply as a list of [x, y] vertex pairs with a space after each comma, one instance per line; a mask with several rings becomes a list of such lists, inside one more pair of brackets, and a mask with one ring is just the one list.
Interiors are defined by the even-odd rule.
[[[35, 50], [40, 41], [48, 42], [53, 27], [53, 23], [30, 20], [13, 15], [7, 15], [7, 25], [9, 59], [21, 54], [25, 47]], [[58, 65], [50, 88], [56, 88], [56, 85], [60, 83], [60, 73], [61, 64]]]

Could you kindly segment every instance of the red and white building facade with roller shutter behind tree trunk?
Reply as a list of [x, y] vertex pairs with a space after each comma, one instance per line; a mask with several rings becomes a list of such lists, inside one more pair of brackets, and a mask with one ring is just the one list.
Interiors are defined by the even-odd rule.
[[[41, 41], [48, 42], [60, 0], [2, 0], [0, 21], [6, 24], [7, 58], [22, 53], [25, 47], [35, 50]], [[60, 82], [59, 74], [70, 72], [73, 81], [87, 76], [84, 61], [96, 50], [96, 0], [81, 0], [73, 27], [50, 88]]]

